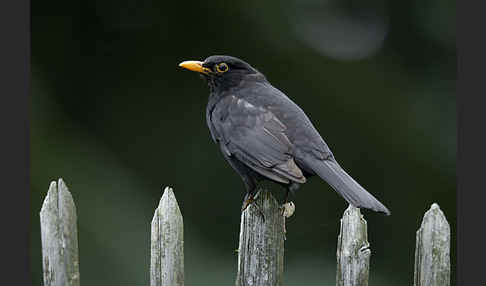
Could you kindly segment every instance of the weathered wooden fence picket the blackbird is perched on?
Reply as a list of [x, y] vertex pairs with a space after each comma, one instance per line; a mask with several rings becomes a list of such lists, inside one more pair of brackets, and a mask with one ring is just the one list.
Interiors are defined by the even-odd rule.
[[237, 286], [283, 285], [284, 219], [283, 209], [267, 190], [241, 214]]

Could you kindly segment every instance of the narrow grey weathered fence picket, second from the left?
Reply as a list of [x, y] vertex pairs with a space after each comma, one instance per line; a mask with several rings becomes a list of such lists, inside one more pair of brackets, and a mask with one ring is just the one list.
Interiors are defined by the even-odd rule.
[[174, 192], [166, 187], [152, 219], [150, 285], [184, 285], [182, 214]]

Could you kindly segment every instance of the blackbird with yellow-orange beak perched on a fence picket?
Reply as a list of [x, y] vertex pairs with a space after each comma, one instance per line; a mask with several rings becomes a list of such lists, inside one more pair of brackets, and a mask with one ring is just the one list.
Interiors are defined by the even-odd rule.
[[317, 175], [353, 206], [390, 214], [338, 164], [304, 111], [258, 70], [221, 55], [179, 66], [200, 73], [209, 86], [207, 125], [245, 184], [243, 210], [259, 181], [285, 186], [287, 201], [289, 192]]

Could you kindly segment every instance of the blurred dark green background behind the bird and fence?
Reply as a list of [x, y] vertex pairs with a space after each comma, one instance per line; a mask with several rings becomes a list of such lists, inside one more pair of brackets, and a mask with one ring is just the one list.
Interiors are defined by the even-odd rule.
[[[455, 1], [33, 1], [31, 269], [62, 177], [82, 285], [148, 285], [150, 221], [174, 188], [186, 285], [232, 285], [243, 183], [210, 139], [206, 84], [177, 65], [240, 57], [299, 104], [342, 166], [392, 211], [364, 211], [370, 285], [411, 285], [437, 202], [455, 279]], [[281, 200], [284, 192], [270, 185]], [[333, 285], [345, 201], [318, 178], [293, 198], [285, 285]]]

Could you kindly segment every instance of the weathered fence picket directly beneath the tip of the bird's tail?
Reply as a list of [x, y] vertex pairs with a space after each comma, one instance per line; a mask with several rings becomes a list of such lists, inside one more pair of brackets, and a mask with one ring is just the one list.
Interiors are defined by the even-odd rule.
[[337, 244], [336, 285], [368, 285], [370, 244], [366, 220], [352, 205], [344, 211]]

